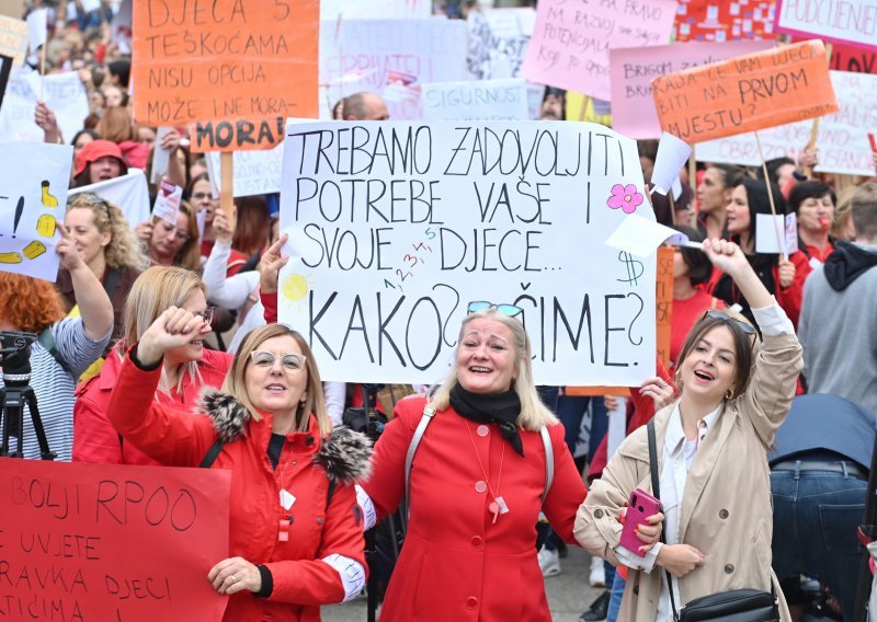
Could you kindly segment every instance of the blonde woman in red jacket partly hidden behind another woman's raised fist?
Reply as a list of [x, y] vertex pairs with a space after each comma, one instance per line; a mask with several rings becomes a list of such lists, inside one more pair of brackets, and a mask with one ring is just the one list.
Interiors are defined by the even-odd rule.
[[207, 307], [206, 287], [192, 270], [151, 267], [130, 288], [123, 311], [122, 337], [109, 353], [101, 372], [80, 384], [73, 407], [73, 461], [102, 464], [157, 464], [127, 441], [106, 416], [110, 395], [118, 382], [130, 344], [171, 307], [197, 314], [207, 324], [190, 334], [187, 343], [166, 353], [159, 383], [150, 400], [192, 411], [203, 387], [219, 388], [231, 365], [231, 355], [209, 350], [202, 338], [209, 333], [214, 309]]

